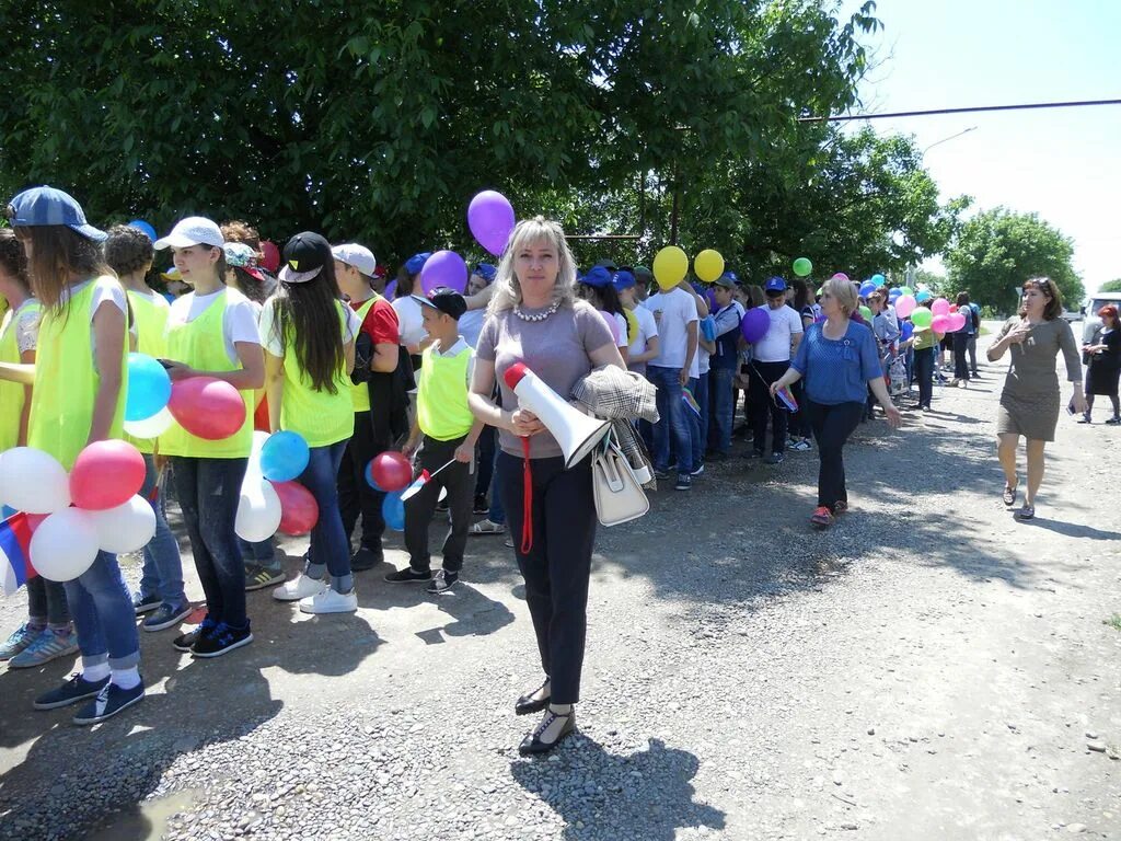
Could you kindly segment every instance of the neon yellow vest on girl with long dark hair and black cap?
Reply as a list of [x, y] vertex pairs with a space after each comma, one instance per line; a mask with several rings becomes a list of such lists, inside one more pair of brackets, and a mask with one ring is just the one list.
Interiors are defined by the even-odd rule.
[[[350, 306], [335, 302], [340, 317], [340, 341], [345, 336]], [[280, 428], [298, 432], [308, 446], [328, 446], [354, 434], [354, 403], [350, 377], [341, 362], [335, 371], [335, 394], [318, 390], [296, 357], [293, 325], [284, 336], [284, 399], [280, 403]]]

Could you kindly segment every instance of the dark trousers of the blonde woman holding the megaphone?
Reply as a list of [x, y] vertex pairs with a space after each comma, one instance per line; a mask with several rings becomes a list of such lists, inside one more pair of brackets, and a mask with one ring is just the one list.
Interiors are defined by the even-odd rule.
[[560, 458], [532, 460], [534, 545], [528, 554], [521, 553], [522, 460], [499, 453], [498, 471], [506, 520], [526, 580], [526, 602], [541, 668], [549, 677], [550, 699], [555, 704], [574, 704], [580, 700], [584, 667], [587, 585], [595, 543], [592, 462], [584, 459], [565, 470]]

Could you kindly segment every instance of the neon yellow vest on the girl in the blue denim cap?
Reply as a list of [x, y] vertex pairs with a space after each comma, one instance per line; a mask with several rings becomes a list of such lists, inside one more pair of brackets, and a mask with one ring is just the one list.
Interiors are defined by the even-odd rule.
[[[93, 406], [101, 375], [93, 358], [93, 294], [114, 277], [85, 285], [61, 309], [44, 309], [35, 349], [35, 386], [27, 445], [55, 456], [70, 470], [90, 438]], [[121, 437], [124, 422], [124, 381], [128, 377], [128, 326], [121, 332], [121, 390], [109, 426], [110, 438]]]

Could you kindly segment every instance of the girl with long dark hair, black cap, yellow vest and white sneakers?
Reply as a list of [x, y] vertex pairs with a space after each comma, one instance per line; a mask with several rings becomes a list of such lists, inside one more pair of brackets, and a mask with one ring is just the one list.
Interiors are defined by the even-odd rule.
[[[358, 610], [339, 510], [339, 465], [354, 433], [350, 375], [362, 322], [342, 302], [330, 243], [297, 233], [284, 248], [280, 285], [261, 311], [266, 392], [274, 432], [299, 433], [311, 447], [299, 482], [318, 506], [304, 572], [272, 591], [305, 613]], [[330, 573], [330, 583], [323, 577]]]

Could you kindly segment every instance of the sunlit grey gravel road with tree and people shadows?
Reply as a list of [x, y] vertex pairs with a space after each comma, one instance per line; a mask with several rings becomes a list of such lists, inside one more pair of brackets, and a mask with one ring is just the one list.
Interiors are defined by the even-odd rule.
[[72, 663], [0, 672], [0, 839], [1121, 838], [1121, 433], [1064, 416], [1015, 523], [982, 373], [861, 427], [831, 532], [813, 452], [601, 529], [580, 733], [547, 759], [516, 750], [511, 552], [472, 538], [452, 595], [385, 567], [354, 616], [251, 594], [257, 641], [219, 660], [142, 635], [147, 700], [93, 729], [30, 709]]

